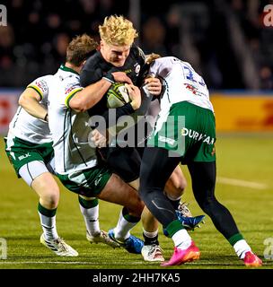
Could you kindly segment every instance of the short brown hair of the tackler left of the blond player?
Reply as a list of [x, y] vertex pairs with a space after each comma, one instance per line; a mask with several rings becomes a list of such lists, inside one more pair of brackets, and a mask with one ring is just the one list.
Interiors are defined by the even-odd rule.
[[87, 34], [76, 36], [66, 48], [66, 62], [80, 66], [96, 48], [98, 43]]

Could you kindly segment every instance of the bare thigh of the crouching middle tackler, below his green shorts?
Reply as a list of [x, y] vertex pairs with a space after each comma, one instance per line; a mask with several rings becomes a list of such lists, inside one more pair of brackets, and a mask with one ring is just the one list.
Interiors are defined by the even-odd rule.
[[120, 204], [141, 214], [144, 204], [138, 196], [137, 190], [128, 186], [118, 175], [112, 174], [98, 198], [113, 204]]

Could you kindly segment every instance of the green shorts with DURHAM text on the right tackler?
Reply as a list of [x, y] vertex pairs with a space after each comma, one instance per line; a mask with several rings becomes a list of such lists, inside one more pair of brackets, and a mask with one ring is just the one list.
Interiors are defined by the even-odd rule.
[[210, 109], [181, 101], [173, 104], [157, 133], [150, 136], [148, 146], [167, 149], [171, 156], [181, 156], [181, 163], [216, 161], [216, 121]]

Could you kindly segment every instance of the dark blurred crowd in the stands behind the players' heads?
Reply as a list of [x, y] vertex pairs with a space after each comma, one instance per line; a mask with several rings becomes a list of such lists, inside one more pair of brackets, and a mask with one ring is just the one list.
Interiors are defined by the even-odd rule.
[[23, 87], [64, 62], [70, 39], [99, 40], [105, 16], [134, 22], [145, 53], [176, 56], [210, 89], [273, 90], [273, 27], [262, 0], [8, 0], [0, 26], [0, 87]]

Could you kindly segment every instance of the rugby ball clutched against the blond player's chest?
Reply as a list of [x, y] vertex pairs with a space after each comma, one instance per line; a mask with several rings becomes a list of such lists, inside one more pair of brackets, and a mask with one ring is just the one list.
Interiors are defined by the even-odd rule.
[[106, 93], [107, 108], [116, 109], [131, 101], [124, 83], [112, 83]]

